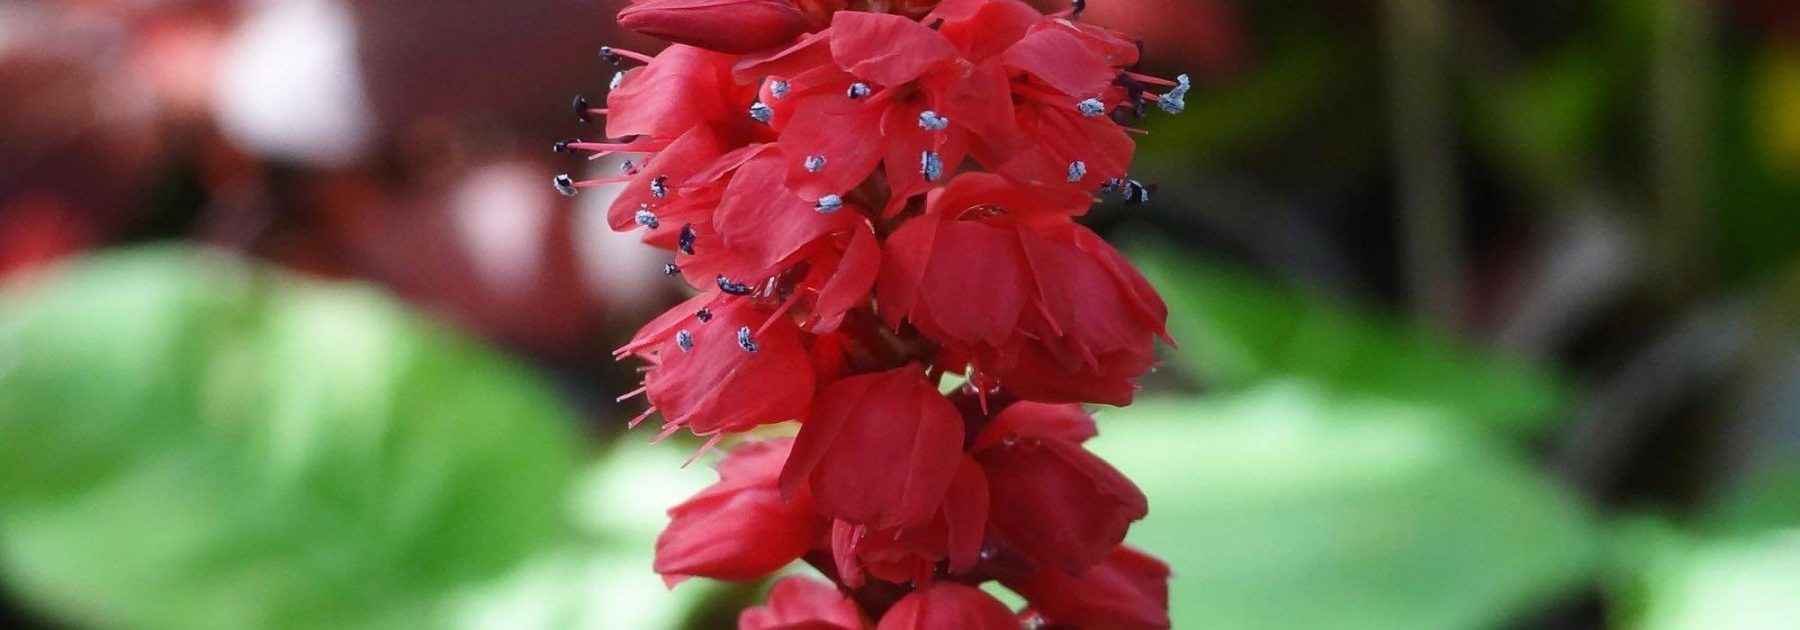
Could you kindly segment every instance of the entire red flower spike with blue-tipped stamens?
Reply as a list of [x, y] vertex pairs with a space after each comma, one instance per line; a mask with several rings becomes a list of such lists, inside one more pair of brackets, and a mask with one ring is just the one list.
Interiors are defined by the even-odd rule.
[[[617, 355], [661, 436], [763, 425], [670, 511], [657, 572], [765, 578], [743, 628], [1168, 626], [1168, 567], [1121, 545], [1143, 493], [1084, 448], [1084, 403], [1127, 405], [1166, 338], [1143, 277], [1073, 221], [1129, 203], [1132, 117], [1188, 79], [1130, 38], [1021, 0], [634, 0], [673, 41], [623, 67], [608, 220], [673, 250], [700, 293]], [[947, 374], [963, 385], [945, 394]], [[999, 581], [1030, 608], [981, 589]]]

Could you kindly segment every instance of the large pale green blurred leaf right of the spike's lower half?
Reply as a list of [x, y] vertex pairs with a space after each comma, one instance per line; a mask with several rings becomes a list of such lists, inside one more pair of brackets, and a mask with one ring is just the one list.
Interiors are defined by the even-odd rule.
[[1586, 509], [1436, 416], [1276, 383], [1107, 410], [1093, 448], [1150, 497], [1177, 628], [1494, 628], [1579, 589]]

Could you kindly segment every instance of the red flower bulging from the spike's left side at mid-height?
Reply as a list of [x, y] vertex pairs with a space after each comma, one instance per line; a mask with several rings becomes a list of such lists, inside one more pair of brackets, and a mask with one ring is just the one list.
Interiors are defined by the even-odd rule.
[[689, 319], [688, 328], [650, 331], [659, 347], [644, 387], [650, 405], [666, 418], [664, 427], [713, 436], [806, 418], [814, 394], [812, 362], [792, 322], [776, 320], [751, 337], [751, 351], [740, 333], [761, 328], [770, 313], [734, 297], [711, 308], [707, 322], [693, 319], [697, 311], [682, 306], [670, 313], [677, 320]]

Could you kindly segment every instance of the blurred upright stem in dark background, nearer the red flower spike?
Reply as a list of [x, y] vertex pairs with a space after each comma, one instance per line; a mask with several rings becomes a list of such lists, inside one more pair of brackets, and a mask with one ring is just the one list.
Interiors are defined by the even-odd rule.
[[1429, 324], [1463, 322], [1462, 175], [1451, 126], [1449, 16], [1442, 0], [1388, 0], [1388, 106], [1408, 299]]

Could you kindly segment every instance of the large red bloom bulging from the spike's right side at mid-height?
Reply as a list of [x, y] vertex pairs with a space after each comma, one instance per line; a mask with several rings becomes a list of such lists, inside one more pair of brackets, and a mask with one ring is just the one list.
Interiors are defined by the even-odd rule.
[[1154, 338], [1166, 338], [1161, 297], [1105, 241], [1058, 220], [1069, 212], [992, 176], [963, 178], [889, 236], [882, 319], [911, 322], [1022, 398], [1130, 403]]

